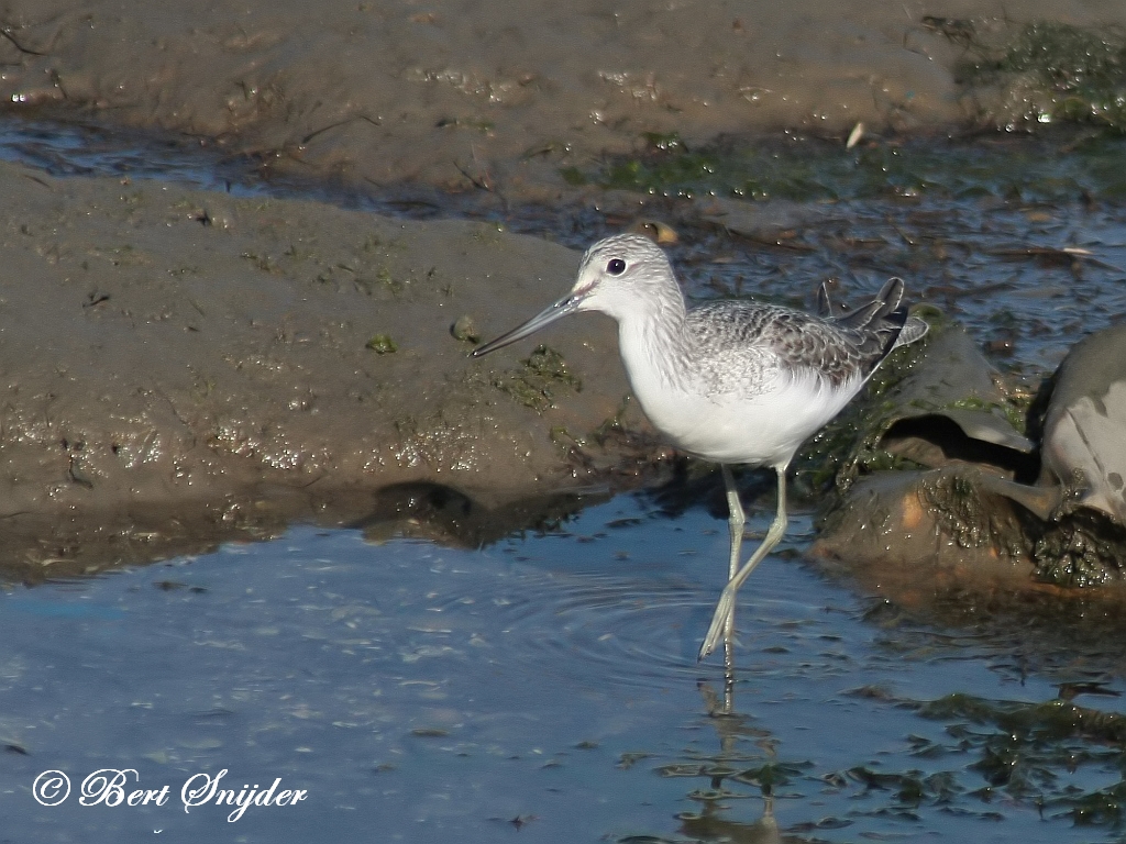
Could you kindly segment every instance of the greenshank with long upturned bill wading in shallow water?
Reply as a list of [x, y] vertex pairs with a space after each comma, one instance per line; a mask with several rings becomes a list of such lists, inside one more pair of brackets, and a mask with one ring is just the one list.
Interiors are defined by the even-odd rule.
[[[855, 311], [828, 316], [749, 300], [692, 307], [665, 253], [647, 237], [620, 234], [591, 246], [571, 291], [522, 325], [474, 350], [488, 354], [568, 314], [601, 311], [618, 323], [629, 385], [650, 422], [678, 449], [720, 464], [726, 487], [731, 557], [699, 658], [726, 644], [732, 661], [735, 595], [786, 531], [786, 468], [801, 445], [852, 399], [895, 348], [927, 333], [902, 306], [893, 278]], [[733, 464], [778, 476], [778, 505], [762, 542], [739, 565], [745, 517]]]

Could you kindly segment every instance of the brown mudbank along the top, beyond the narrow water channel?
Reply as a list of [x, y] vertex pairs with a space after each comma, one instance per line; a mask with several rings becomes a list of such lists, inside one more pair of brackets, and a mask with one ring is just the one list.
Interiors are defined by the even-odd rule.
[[[1019, 17], [1013, 17], [1019, 16]], [[11, 0], [0, 98], [218, 141], [305, 172], [545, 197], [561, 167], [645, 133], [689, 144], [843, 137], [975, 119], [1028, 91], [967, 88], [975, 38], [1126, 23], [1112, 0], [794, 3]], [[128, 56], [128, 61], [122, 61]]]

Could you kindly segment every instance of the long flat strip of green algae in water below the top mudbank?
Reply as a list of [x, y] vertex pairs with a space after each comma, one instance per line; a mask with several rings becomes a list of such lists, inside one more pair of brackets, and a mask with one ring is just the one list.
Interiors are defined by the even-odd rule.
[[1042, 131], [1033, 138], [978, 132], [963, 138], [873, 140], [851, 150], [839, 141], [806, 136], [726, 140], [691, 150], [665, 144], [561, 174], [572, 185], [680, 198], [810, 203], [1126, 197], [1126, 138], [1120, 132], [1037, 126]]

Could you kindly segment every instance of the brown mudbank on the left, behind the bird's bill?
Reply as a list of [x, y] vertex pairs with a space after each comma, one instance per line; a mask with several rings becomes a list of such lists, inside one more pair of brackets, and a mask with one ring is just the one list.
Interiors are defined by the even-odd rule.
[[608, 320], [575, 320], [538, 354], [466, 357], [465, 333], [570, 286], [579, 255], [562, 246], [10, 164], [0, 194], [0, 565], [452, 500], [472, 522], [605, 488], [623, 432], [644, 430], [622, 413]]

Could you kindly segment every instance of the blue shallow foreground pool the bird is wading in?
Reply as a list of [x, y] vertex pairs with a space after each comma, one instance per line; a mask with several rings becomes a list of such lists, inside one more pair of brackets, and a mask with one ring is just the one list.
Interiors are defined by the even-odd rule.
[[[795, 558], [811, 526], [794, 523], [745, 590], [731, 715], [712, 715], [721, 667], [694, 657], [725, 522], [646, 496], [480, 551], [295, 528], [11, 590], [6, 837], [771, 841], [772, 802], [792, 841], [1116, 838], [1072, 818], [1076, 794], [1120, 782], [1117, 747], [989, 715], [1052, 701], [1063, 679], [1118, 694], [1109, 664], [1021, 667], [984, 630], [888, 613]], [[931, 701], [946, 708], [920, 711]], [[101, 769], [168, 801], [80, 806]], [[71, 779], [60, 806], [32, 793], [46, 770]], [[307, 798], [234, 823], [232, 807], [186, 814], [184, 783], [223, 770]]]

